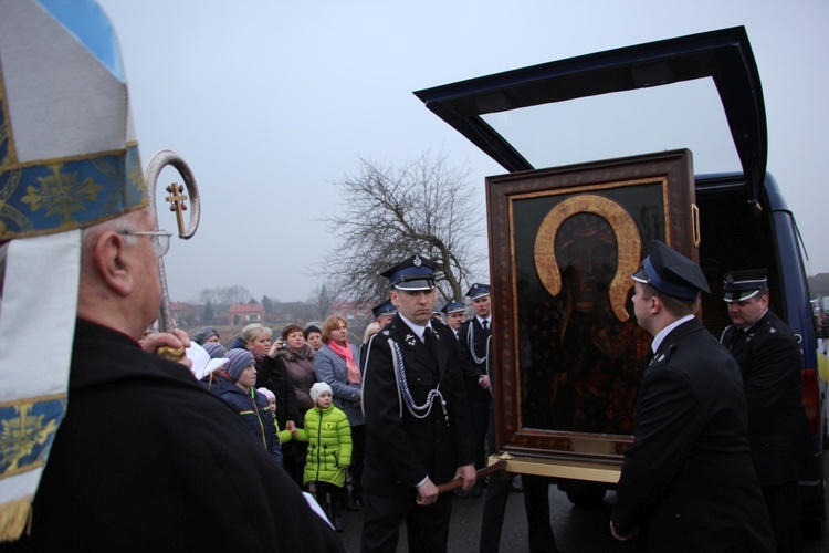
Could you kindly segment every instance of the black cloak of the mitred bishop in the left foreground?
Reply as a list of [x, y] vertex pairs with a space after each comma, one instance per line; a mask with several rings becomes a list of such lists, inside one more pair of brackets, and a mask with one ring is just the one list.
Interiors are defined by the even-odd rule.
[[85, 321], [31, 536], [7, 549], [345, 551], [241, 417], [183, 365]]

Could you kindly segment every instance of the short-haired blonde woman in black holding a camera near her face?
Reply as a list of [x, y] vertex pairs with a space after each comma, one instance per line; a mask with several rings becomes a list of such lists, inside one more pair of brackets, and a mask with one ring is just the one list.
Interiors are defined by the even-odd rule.
[[296, 431], [300, 411], [296, 407], [294, 385], [285, 367], [276, 363], [276, 354], [282, 349], [281, 342], [271, 345], [273, 331], [260, 323], [252, 323], [242, 328], [242, 335], [233, 342], [231, 351], [246, 349], [255, 359], [259, 386], [273, 392], [276, 396], [276, 421], [280, 428]]

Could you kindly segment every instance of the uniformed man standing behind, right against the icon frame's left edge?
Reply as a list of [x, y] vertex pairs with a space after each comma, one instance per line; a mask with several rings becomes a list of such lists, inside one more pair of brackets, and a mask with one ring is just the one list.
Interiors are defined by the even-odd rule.
[[[472, 432], [475, 445], [475, 469], [486, 462], [486, 430], [490, 426], [490, 344], [492, 341], [492, 313], [490, 309], [490, 285], [472, 284], [466, 298], [470, 299], [475, 316], [461, 325], [460, 346], [463, 377], [466, 383], [472, 417]], [[475, 486], [472, 497], [481, 495], [481, 487]]]

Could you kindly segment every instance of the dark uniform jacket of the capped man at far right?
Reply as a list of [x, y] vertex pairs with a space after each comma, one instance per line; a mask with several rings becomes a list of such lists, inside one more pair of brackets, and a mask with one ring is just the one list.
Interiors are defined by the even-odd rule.
[[751, 328], [721, 338], [743, 373], [752, 459], [763, 486], [798, 479], [808, 452], [802, 354], [797, 338], [767, 311]]

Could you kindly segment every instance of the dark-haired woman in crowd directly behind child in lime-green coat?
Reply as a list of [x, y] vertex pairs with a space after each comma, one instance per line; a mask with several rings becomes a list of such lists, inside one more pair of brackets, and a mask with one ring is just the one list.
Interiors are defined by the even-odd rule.
[[[302, 326], [288, 324], [282, 328], [282, 341], [287, 347], [276, 353], [276, 363], [287, 373], [291, 383], [294, 386], [296, 405], [300, 416], [296, 419], [297, 427], [302, 428], [302, 421], [305, 414], [314, 407], [314, 400], [311, 398], [311, 387], [317, 380], [314, 373], [314, 348], [305, 343], [305, 336]], [[285, 458], [284, 466], [288, 474], [302, 486], [303, 470], [305, 469], [305, 455], [307, 444], [293, 441], [288, 447], [283, 447], [282, 453]]]

